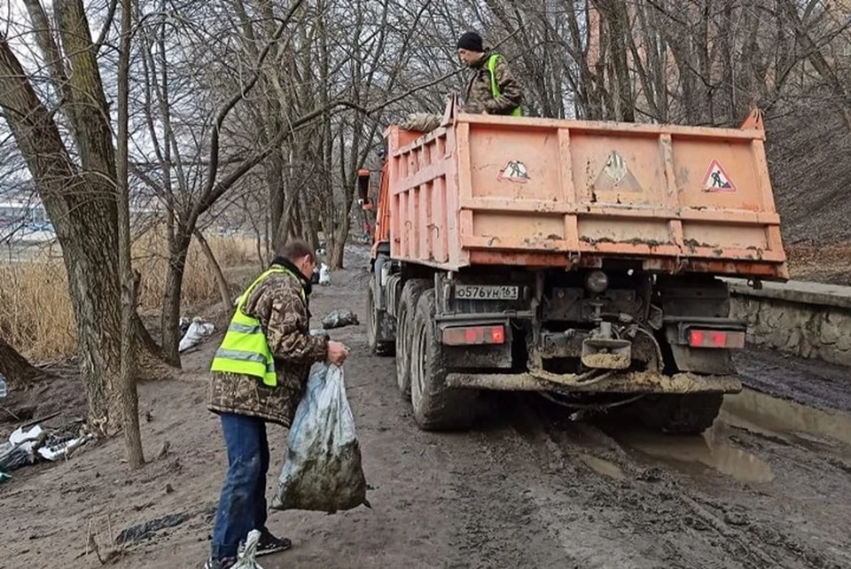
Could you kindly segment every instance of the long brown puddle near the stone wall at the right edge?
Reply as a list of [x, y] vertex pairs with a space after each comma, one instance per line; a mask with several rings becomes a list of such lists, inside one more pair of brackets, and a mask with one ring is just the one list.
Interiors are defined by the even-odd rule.
[[803, 440], [831, 437], [851, 444], [851, 415], [826, 411], [745, 389], [724, 397], [721, 420], [756, 433], [790, 433]]

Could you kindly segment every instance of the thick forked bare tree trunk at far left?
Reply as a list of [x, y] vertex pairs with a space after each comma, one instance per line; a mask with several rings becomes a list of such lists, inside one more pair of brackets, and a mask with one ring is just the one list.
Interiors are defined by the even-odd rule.
[[[115, 156], [97, 46], [80, 0], [27, 2], [57, 109], [70, 129], [72, 159], [57, 110], [36, 94], [31, 75], [0, 35], [0, 107], [56, 227], [74, 305], [82, 378], [93, 422], [118, 420], [111, 395], [121, 372]], [[58, 32], [59, 43], [54, 41]], [[116, 417], [117, 416], [117, 417]]]

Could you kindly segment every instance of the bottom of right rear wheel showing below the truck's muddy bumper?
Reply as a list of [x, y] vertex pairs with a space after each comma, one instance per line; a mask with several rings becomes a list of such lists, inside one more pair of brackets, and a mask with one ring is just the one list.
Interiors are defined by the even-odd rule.
[[639, 401], [639, 417], [653, 429], [672, 434], [699, 434], [714, 423], [723, 394], [653, 395]]

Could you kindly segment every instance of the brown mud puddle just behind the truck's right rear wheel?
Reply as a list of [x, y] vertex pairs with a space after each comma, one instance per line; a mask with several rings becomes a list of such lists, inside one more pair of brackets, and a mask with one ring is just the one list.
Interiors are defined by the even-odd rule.
[[[677, 470], [699, 474], [712, 468], [746, 483], [765, 483], [774, 479], [768, 463], [741, 448], [730, 445], [728, 428], [716, 423], [699, 436], [670, 436], [652, 431], [634, 430], [614, 434], [622, 445], [660, 459]], [[699, 465], [698, 468], [694, 468]]]

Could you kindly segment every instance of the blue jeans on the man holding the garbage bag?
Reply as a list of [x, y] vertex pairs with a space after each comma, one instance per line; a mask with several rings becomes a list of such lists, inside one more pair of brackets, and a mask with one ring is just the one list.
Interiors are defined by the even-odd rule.
[[262, 419], [223, 413], [228, 474], [215, 511], [213, 557], [237, 557], [239, 542], [253, 529], [266, 531], [269, 440]]

